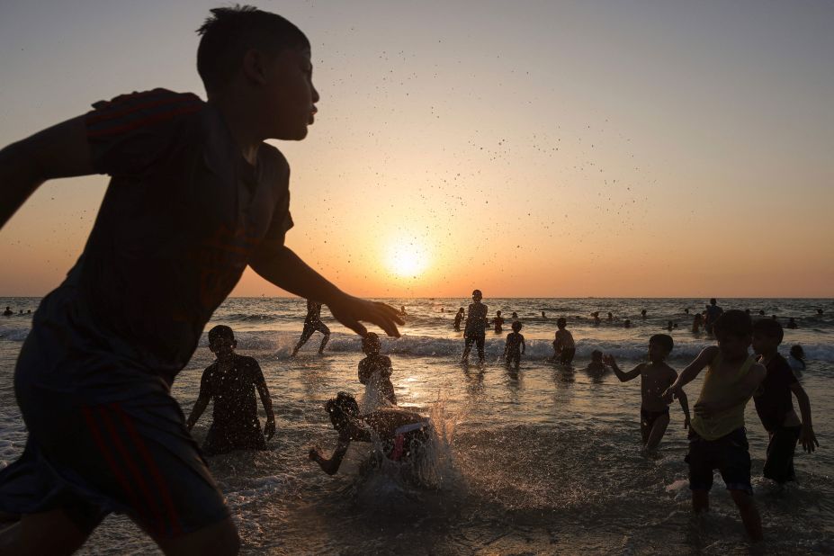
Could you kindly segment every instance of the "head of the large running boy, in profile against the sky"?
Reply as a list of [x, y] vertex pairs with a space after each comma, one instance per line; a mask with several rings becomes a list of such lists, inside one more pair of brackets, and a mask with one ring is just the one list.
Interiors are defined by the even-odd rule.
[[209, 100], [230, 98], [258, 116], [266, 139], [300, 140], [313, 122], [309, 40], [276, 13], [254, 6], [214, 8], [197, 33], [197, 72]]

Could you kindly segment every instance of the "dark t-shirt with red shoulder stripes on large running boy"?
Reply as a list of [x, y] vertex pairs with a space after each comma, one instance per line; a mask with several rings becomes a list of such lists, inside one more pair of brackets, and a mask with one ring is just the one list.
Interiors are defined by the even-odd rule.
[[250, 165], [220, 112], [194, 94], [154, 89], [94, 108], [93, 166], [112, 179], [84, 253], [33, 328], [68, 324], [67, 342], [103, 369], [170, 383], [250, 256], [283, 245], [290, 169], [266, 144]]

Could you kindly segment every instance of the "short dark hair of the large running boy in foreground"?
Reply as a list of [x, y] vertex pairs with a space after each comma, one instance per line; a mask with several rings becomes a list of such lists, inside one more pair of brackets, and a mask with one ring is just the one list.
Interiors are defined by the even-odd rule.
[[197, 73], [210, 94], [231, 80], [248, 49], [274, 54], [284, 49], [309, 49], [309, 40], [298, 27], [277, 13], [252, 5], [212, 9], [197, 34], [202, 35]]

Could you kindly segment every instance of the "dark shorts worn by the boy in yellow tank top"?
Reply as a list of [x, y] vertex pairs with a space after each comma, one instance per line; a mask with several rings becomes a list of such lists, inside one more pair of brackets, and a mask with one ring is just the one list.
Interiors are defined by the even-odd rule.
[[753, 494], [750, 485], [750, 452], [744, 427], [716, 440], [705, 440], [689, 429], [689, 489], [713, 488], [713, 470], [721, 472], [728, 490]]

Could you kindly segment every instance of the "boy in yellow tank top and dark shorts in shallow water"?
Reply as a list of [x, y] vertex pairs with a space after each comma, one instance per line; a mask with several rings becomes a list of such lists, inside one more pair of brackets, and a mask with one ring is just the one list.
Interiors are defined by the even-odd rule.
[[762, 540], [762, 525], [750, 486], [744, 408], [767, 371], [748, 353], [753, 327], [747, 313], [726, 311], [715, 321], [713, 333], [718, 345], [698, 354], [667, 393], [679, 396], [688, 382], [709, 367], [695, 403], [686, 455], [692, 508], [696, 514], [709, 510], [713, 470], [721, 471], [750, 540], [758, 543]]

